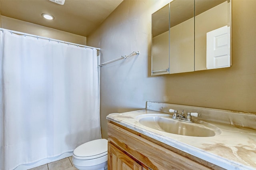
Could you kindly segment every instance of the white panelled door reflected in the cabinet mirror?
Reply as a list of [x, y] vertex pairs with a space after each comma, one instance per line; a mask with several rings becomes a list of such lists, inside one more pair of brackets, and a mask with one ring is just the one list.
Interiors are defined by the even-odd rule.
[[206, 33], [206, 67], [230, 67], [230, 27], [224, 26]]

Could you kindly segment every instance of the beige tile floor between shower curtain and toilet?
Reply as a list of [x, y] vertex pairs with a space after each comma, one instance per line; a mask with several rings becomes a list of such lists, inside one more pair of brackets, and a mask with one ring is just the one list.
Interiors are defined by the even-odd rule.
[[77, 169], [73, 166], [72, 156], [70, 156], [68, 158], [51, 162], [49, 164], [44, 164], [42, 166], [38, 166], [30, 170], [77, 170]]

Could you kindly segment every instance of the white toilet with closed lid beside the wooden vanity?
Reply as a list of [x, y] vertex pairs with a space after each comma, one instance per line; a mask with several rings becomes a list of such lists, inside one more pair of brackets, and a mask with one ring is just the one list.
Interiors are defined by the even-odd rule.
[[72, 158], [78, 170], [108, 169], [108, 140], [97, 139], [75, 148]]

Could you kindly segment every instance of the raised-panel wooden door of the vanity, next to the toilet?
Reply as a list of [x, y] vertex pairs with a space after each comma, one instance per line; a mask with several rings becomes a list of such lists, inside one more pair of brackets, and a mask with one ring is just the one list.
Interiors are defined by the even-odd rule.
[[142, 166], [108, 142], [108, 170], [142, 170]]

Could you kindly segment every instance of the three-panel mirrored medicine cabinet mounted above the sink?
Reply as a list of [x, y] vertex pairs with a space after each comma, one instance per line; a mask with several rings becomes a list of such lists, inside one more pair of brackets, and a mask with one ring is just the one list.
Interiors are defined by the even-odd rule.
[[231, 0], [173, 0], [152, 14], [151, 75], [231, 65]]

